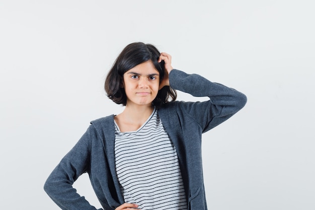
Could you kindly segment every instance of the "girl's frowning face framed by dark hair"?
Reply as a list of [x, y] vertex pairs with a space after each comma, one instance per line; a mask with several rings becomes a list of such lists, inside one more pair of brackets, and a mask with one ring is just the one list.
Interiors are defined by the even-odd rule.
[[160, 73], [151, 60], [140, 63], [123, 75], [128, 105], [149, 105], [159, 92]]

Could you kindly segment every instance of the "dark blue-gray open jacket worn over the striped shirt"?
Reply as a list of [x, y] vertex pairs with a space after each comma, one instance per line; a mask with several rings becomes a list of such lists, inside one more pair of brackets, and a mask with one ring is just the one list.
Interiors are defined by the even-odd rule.
[[[207, 209], [201, 134], [238, 112], [245, 106], [247, 98], [232, 88], [177, 69], [171, 71], [169, 80], [173, 89], [196, 97], [210, 98], [204, 102], [175, 101], [158, 109], [178, 154], [188, 209]], [[85, 134], [48, 177], [44, 185], [47, 194], [64, 210], [95, 210], [84, 196], [80, 196], [72, 188], [73, 182], [87, 172], [105, 210], [113, 210], [123, 204], [115, 171], [114, 145], [114, 115], [92, 121]]]

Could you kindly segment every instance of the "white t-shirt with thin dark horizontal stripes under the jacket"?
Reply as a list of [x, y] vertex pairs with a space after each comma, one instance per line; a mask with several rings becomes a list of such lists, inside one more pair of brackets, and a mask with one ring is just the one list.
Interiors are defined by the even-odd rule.
[[141, 210], [187, 209], [178, 156], [157, 110], [136, 131], [115, 122], [115, 164], [125, 202]]

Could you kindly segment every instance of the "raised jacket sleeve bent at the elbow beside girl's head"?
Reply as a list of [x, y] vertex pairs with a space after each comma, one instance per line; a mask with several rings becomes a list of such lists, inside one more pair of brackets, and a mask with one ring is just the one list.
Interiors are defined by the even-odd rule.
[[195, 120], [203, 132], [210, 130], [242, 109], [247, 97], [232, 88], [196, 75], [173, 69], [169, 75], [170, 87], [195, 97], [209, 97], [204, 102], [179, 103], [191, 119]]

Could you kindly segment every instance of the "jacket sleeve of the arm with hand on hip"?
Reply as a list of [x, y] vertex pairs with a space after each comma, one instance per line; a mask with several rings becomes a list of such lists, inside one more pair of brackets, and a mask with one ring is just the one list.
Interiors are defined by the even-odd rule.
[[92, 125], [64, 156], [45, 182], [44, 190], [63, 210], [96, 210], [72, 187], [74, 181], [90, 167], [91, 127]]

